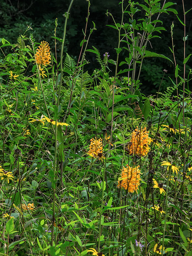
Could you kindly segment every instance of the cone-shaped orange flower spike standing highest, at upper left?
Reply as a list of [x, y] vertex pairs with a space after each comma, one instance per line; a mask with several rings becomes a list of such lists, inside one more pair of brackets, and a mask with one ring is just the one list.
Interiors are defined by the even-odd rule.
[[51, 55], [50, 55], [50, 47], [48, 42], [41, 42], [40, 46], [37, 49], [35, 54], [36, 62], [40, 67], [46, 66], [50, 63]]

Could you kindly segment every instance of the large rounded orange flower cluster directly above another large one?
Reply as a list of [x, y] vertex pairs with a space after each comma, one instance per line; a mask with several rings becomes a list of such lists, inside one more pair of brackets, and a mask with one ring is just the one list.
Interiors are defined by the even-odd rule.
[[128, 143], [129, 154], [137, 154], [139, 156], [146, 156], [150, 148], [148, 145], [151, 143], [151, 138], [148, 136], [146, 127], [138, 129], [138, 127], [132, 133], [131, 141]]

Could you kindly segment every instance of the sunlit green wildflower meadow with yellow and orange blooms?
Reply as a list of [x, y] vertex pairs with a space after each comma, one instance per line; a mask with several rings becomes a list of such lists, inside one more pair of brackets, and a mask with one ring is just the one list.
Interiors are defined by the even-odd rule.
[[[86, 3], [77, 61], [63, 51], [73, 0], [63, 38], [57, 18], [50, 42], [37, 42], [31, 25], [17, 42], [0, 38], [0, 256], [192, 256], [191, 10], [117, 2], [118, 18], [106, 10], [112, 59], [89, 44], [97, 24]], [[172, 58], [151, 48], [154, 38], [164, 47], [161, 16], [170, 13], [183, 26], [179, 64], [171, 20]], [[92, 72], [88, 53], [98, 64]], [[160, 58], [174, 79], [161, 92], [162, 70], [146, 96], [142, 64]]]

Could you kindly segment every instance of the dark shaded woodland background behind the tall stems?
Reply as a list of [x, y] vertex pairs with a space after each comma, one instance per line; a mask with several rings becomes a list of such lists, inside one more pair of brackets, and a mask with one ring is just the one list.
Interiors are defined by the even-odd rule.
[[[90, 16], [88, 22], [87, 35], [90, 32], [90, 28], [93, 27], [92, 21], [96, 24], [96, 29], [94, 30], [89, 41], [88, 48], [95, 46], [99, 51], [101, 56], [104, 52], [109, 52], [111, 59], [116, 59], [116, 51], [114, 48], [118, 44], [118, 32], [108, 26], [107, 24], [113, 25], [113, 20], [111, 16], [106, 15], [106, 11], [112, 13], [116, 22], [121, 20], [121, 5], [118, 5], [117, 0], [91, 0], [90, 6]], [[138, 1], [145, 4], [144, 0]], [[167, 1], [168, 2], [168, 1]], [[170, 1], [169, 1], [170, 2]], [[174, 2], [174, 1], [173, 1]], [[177, 4], [171, 8], [175, 8], [178, 11], [179, 18], [184, 21], [182, 0], [177, 0]], [[163, 3], [163, 1], [161, 1]], [[64, 28], [64, 16], [63, 14], [67, 11], [70, 0], [0, 0], [0, 37], [5, 38], [10, 43], [16, 43], [16, 40], [20, 34], [23, 34], [27, 28], [27, 25], [31, 25], [33, 30], [30, 30], [26, 35], [29, 36], [30, 33], [34, 34], [36, 42], [41, 42], [46, 40], [49, 42], [52, 52], [54, 52], [54, 20], [58, 18], [58, 27], [56, 36], [62, 38], [63, 28]], [[128, 4], [128, 1], [125, 1]], [[185, 11], [192, 8], [191, 0], [184, 0]], [[68, 52], [72, 58], [76, 61], [80, 53], [80, 42], [83, 39], [83, 32], [86, 24], [88, 10], [88, 2], [86, 0], [74, 0], [72, 8], [70, 10], [70, 18], [68, 19], [67, 34], [66, 34], [66, 44], [64, 51]], [[144, 18], [144, 12], [137, 12], [136, 19]], [[169, 47], [172, 48], [171, 36], [170, 36], [170, 26], [174, 22], [174, 51], [176, 55], [176, 62], [179, 65], [180, 76], [183, 75], [183, 36], [184, 27], [178, 21], [175, 14], [170, 12], [170, 14], [161, 14], [160, 20], [163, 21], [163, 25], [166, 31], [162, 31], [162, 34], [157, 33], [161, 36], [160, 38], [153, 38], [148, 44], [148, 50], [156, 52], [159, 54], [164, 54], [171, 60], [173, 60], [172, 53]], [[124, 22], [129, 22], [129, 16], [125, 16]], [[192, 53], [192, 11], [186, 14], [186, 35], [188, 35], [188, 40], [186, 41], [186, 56]], [[124, 46], [124, 45], [122, 45]], [[57, 52], [60, 55], [61, 43], [58, 42]], [[128, 56], [126, 50], [122, 51], [120, 54], [120, 62]], [[100, 68], [98, 62], [95, 59], [95, 55], [92, 53], [86, 53], [86, 60], [90, 62], [85, 68], [91, 72], [95, 68]], [[119, 63], [120, 63], [119, 62]], [[187, 62], [186, 70], [190, 68], [191, 61]], [[126, 66], [121, 66], [121, 69], [127, 68]], [[114, 75], [114, 66], [110, 64], [110, 69], [112, 70], [111, 76]], [[142, 86], [140, 87], [142, 93], [150, 94], [155, 93], [158, 90], [159, 84], [161, 82], [162, 76], [164, 74], [163, 70], [168, 70], [165, 75], [164, 81], [162, 82], [161, 91], [163, 92], [166, 87], [172, 86], [170, 76], [174, 80], [174, 65], [163, 58], [145, 58], [142, 66], [142, 73], [140, 75], [140, 80]]]

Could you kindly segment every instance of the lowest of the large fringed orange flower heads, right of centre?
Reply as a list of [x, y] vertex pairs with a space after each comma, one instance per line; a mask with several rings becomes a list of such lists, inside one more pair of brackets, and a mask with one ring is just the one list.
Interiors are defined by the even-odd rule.
[[121, 178], [118, 180], [118, 188], [124, 188], [128, 192], [137, 192], [140, 185], [140, 166], [130, 167], [128, 164], [127, 168], [123, 167], [121, 172]]

